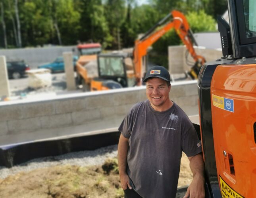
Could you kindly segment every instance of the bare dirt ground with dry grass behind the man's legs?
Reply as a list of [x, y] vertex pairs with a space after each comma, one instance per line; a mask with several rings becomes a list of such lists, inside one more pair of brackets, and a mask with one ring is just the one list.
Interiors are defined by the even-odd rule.
[[[103, 166], [102, 166], [103, 165]], [[0, 179], [0, 197], [23, 198], [122, 198], [117, 159], [97, 166], [69, 164], [19, 172]], [[189, 185], [192, 173], [183, 153], [178, 186]], [[183, 197], [177, 194], [177, 197]]]

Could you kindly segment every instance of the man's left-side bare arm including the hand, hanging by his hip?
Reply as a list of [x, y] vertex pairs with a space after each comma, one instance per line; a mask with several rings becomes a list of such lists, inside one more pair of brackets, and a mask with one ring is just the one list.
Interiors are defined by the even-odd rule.
[[131, 188], [129, 184], [129, 177], [126, 173], [127, 166], [127, 152], [129, 148], [128, 139], [120, 135], [119, 143], [118, 143], [118, 168], [119, 168], [119, 176], [121, 181], [121, 187], [125, 190], [127, 186]]

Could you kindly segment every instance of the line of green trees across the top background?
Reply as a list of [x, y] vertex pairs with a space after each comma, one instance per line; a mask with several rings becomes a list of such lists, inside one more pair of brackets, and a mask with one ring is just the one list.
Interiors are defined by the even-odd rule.
[[[105, 49], [121, 49], [132, 47], [139, 34], [171, 10], [183, 12], [194, 32], [214, 31], [227, 1], [0, 0], [0, 7], [0, 48], [100, 42]], [[154, 47], [179, 43], [170, 31]]]

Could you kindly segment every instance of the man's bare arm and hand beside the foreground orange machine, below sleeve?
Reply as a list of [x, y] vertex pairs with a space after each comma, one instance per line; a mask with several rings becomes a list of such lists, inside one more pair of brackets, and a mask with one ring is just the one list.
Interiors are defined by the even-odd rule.
[[193, 180], [189, 185], [184, 198], [204, 198], [204, 161], [202, 154], [189, 158], [189, 166], [193, 173]]

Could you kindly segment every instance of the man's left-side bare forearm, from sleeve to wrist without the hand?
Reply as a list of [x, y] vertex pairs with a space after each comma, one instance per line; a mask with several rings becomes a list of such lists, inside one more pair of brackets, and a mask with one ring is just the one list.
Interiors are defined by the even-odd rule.
[[120, 135], [119, 143], [118, 143], [119, 175], [126, 174], [128, 147], [129, 147], [128, 139], [123, 137], [123, 135]]

